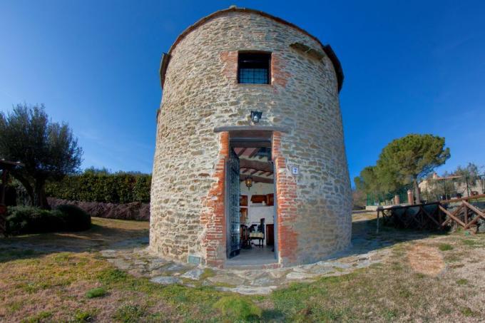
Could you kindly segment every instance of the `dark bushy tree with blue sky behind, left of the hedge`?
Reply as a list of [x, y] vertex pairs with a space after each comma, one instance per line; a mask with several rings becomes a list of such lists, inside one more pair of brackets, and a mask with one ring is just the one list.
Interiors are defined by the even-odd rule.
[[0, 156], [24, 167], [11, 172], [26, 189], [32, 205], [48, 208], [47, 180], [59, 180], [81, 165], [83, 150], [66, 123], [49, 120], [44, 105], [17, 105], [0, 113]]

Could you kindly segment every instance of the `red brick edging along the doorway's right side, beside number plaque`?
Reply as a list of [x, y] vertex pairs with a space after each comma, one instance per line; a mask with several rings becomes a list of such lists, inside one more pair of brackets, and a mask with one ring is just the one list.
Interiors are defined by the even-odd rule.
[[281, 152], [281, 138], [282, 133], [273, 133], [272, 157], [275, 163], [278, 257], [280, 263], [285, 265], [297, 261], [298, 234], [293, 229], [297, 220], [297, 183], [288, 173], [286, 160]]

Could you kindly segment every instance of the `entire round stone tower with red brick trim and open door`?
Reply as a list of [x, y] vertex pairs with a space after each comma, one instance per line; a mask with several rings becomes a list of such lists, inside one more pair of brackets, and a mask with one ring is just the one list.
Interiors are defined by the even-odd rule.
[[282, 267], [344, 249], [352, 197], [328, 45], [231, 7], [183, 31], [160, 65], [150, 250], [217, 267]]

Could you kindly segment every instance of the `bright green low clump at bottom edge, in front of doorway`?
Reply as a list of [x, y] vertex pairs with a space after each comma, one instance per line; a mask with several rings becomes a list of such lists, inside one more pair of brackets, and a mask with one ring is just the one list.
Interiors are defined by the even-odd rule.
[[251, 299], [240, 296], [223, 297], [214, 304], [228, 318], [237, 321], [247, 321], [261, 317], [262, 310]]

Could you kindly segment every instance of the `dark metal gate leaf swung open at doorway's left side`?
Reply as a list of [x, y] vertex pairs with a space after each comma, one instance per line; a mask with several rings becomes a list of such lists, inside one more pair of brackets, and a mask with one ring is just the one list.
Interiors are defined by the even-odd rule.
[[228, 258], [239, 255], [240, 247], [240, 210], [239, 210], [239, 158], [230, 148], [227, 166], [226, 217], [228, 221]]

